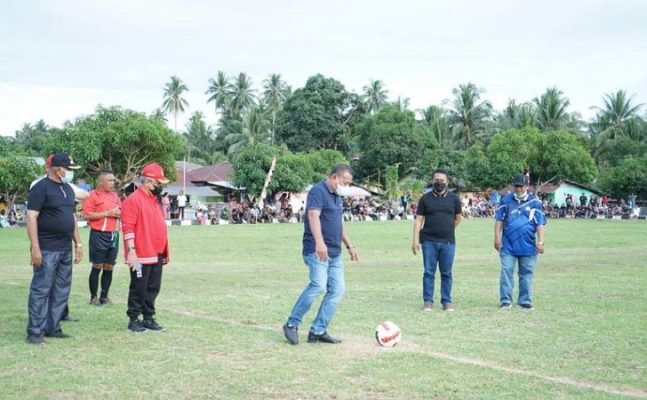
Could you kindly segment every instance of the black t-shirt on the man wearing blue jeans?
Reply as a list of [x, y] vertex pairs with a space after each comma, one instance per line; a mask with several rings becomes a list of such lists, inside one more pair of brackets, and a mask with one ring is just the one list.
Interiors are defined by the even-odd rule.
[[455, 243], [454, 218], [461, 214], [461, 200], [454, 193], [426, 193], [418, 202], [417, 215], [425, 217], [420, 240]]

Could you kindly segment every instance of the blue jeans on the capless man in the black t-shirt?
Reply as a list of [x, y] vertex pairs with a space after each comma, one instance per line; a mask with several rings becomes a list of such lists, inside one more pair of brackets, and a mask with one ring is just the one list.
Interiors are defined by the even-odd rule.
[[456, 245], [448, 242], [431, 242], [423, 240], [422, 262], [425, 273], [422, 276], [422, 299], [424, 302], [434, 302], [434, 282], [436, 266], [440, 269], [440, 302], [452, 302], [452, 266]]

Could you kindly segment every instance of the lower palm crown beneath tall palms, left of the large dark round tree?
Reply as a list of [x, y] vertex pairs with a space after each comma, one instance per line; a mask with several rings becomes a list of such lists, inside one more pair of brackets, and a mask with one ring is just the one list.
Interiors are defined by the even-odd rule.
[[267, 143], [270, 136], [270, 123], [260, 106], [250, 107], [242, 121], [229, 120], [223, 129], [227, 133], [225, 142], [229, 144], [227, 155], [230, 158], [236, 156], [247, 145]]

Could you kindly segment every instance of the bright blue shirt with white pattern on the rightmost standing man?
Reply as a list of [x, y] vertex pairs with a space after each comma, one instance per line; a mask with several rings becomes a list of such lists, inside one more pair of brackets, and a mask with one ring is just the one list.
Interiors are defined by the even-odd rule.
[[541, 200], [528, 194], [526, 200], [517, 200], [513, 193], [501, 199], [495, 216], [503, 221], [503, 247], [501, 252], [513, 256], [535, 256], [537, 226], [546, 225]]

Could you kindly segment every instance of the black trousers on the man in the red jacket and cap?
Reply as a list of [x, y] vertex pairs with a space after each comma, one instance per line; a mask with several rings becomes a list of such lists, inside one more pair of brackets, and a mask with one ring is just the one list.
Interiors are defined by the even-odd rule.
[[131, 320], [139, 318], [151, 319], [155, 315], [155, 299], [162, 287], [162, 256], [157, 264], [144, 265], [141, 278], [130, 271], [130, 287], [128, 289], [128, 317]]

